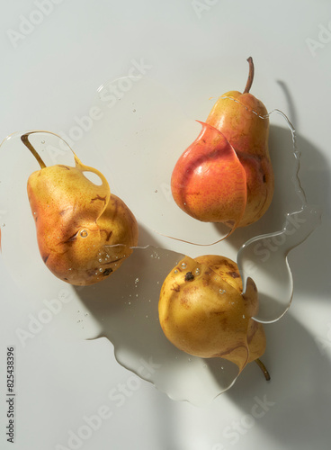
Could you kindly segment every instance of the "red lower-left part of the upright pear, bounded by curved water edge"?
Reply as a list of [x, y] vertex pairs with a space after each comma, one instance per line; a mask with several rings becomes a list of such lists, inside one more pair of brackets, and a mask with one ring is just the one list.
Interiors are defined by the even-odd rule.
[[[228, 139], [202, 123], [202, 130], [174, 166], [174, 201], [194, 219], [237, 224], [246, 205], [246, 173]], [[222, 201], [221, 201], [222, 200]]]

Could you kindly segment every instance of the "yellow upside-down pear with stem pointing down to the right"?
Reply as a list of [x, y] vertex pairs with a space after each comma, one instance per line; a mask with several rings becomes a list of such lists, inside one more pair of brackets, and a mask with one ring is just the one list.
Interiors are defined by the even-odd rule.
[[266, 341], [263, 325], [252, 319], [258, 294], [248, 278], [243, 294], [237, 264], [227, 257], [184, 257], [166, 276], [158, 302], [165, 337], [183, 352], [201, 358], [221, 357], [241, 372], [259, 359]]

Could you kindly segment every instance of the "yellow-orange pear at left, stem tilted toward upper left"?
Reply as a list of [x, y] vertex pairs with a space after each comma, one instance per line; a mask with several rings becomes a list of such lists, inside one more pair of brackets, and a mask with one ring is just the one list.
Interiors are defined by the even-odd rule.
[[[117, 270], [138, 244], [138, 224], [127, 205], [110, 191], [103, 174], [85, 166], [45, 166], [40, 163], [27, 184], [40, 255], [59, 279], [75, 285], [95, 284]], [[101, 184], [85, 173], [92, 172]]]

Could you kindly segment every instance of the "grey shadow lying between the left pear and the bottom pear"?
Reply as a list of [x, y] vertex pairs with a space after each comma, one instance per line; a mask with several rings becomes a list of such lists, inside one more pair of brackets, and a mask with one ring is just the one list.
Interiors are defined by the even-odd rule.
[[99, 336], [93, 338], [110, 339], [115, 356], [148, 359], [156, 353], [156, 337], [172, 351], [158, 322], [158, 299], [166, 275], [183, 255], [157, 247], [147, 229], [139, 228], [139, 233], [148, 246], [133, 249], [102, 283], [76, 287], [76, 293], [101, 326]]

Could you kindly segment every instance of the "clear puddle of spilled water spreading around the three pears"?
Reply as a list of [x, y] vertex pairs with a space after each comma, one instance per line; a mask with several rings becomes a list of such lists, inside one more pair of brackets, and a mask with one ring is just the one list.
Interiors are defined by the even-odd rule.
[[[174, 203], [170, 190], [174, 164], [195, 139], [200, 125], [183, 115], [163, 86], [145, 78], [130, 80], [132, 89], [117, 98], [116, 104], [109, 94], [116, 80], [102, 85], [94, 102], [102, 116], [94, 123], [94, 140], [105, 163], [103, 175], [112, 192], [121, 196], [139, 222], [152, 232], [210, 246], [224, 238], [228, 229], [187, 216]], [[285, 165], [291, 167], [291, 189], [287, 185], [289, 194], [286, 198], [283, 195], [284, 204], [279, 211], [271, 207], [273, 214], [282, 217], [283, 226], [281, 229], [265, 226], [265, 232], [258, 236], [248, 233], [246, 243], [237, 253], [244, 285], [247, 277], [252, 277], [258, 288], [260, 311], [255, 320], [264, 323], [279, 320], [288, 310], [293, 295], [288, 254], [320, 220], [320, 211], [307, 204], [300, 185], [300, 150], [295, 130], [282, 112], [274, 110], [269, 114], [271, 119], [273, 114], [281, 115], [290, 130], [282, 152], [286, 154]], [[36, 245], [26, 182], [31, 172], [40, 167], [22, 150], [21, 136], [22, 133], [15, 133], [4, 139], [0, 148], [2, 251], [16, 284], [34, 292], [37, 281], [42, 280], [40, 292], [47, 293], [63, 284], [44, 266]], [[39, 131], [31, 140], [47, 165], [70, 164], [69, 160], [73, 165], [70, 148], [58, 136]], [[81, 157], [79, 151], [77, 154]], [[125, 172], [119, 167], [125, 167]], [[276, 184], [278, 188], [282, 189], [282, 185]], [[265, 219], [266, 225], [271, 222]], [[169, 246], [173, 243], [171, 238]], [[219, 247], [206, 247], [205, 254], [215, 252], [219, 252]], [[220, 358], [203, 360], [188, 356], [163, 335], [158, 322], [158, 297], [165, 276], [182, 258], [183, 254], [170, 249], [138, 247], [102, 284], [74, 289], [73, 293], [77, 308], [90, 311], [97, 323], [95, 328], [86, 322], [86, 338], [109, 338], [121, 365], [154, 383], [174, 400], [204, 404], [235, 382], [237, 366]]]

